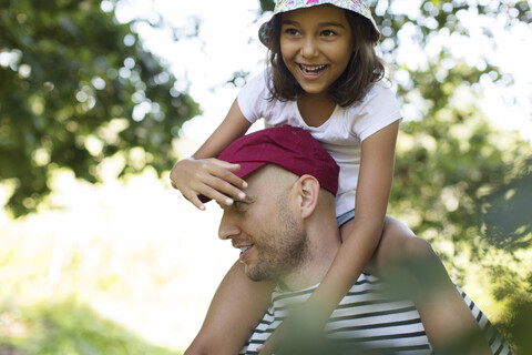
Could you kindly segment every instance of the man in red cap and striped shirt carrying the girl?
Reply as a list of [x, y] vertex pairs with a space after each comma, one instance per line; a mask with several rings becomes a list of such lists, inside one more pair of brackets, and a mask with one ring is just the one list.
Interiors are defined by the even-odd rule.
[[[310, 134], [291, 126], [245, 135], [218, 159], [241, 164], [236, 174], [248, 183], [245, 201], [224, 206], [219, 237], [231, 240], [242, 251], [239, 260], [250, 280], [277, 283], [272, 306], [242, 351], [257, 354], [289, 310], [317, 287], [340, 247], [335, 215], [338, 166]], [[511, 354], [480, 310], [462, 295], [493, 353]], [[286, 334], [291, 336], [288, 341], [301, 354], [301, 346], [307, 354], [347, 354], [354, 349], [361, 354], [431, 352], [413, 303], [393, 296], [392, 290], [385, 290], [377, 277], [368, 274], [359, 277], [334, 311], [324, 338], [308, 337], [318, 334], [308, 326], [309, 318], [296, 313], [289, 320], [299, 322], [285, 325]], [[308, 344], [311, 346], [304, 346]], [[284, 348], [284, 354], [295, 353], [294, 348]]]

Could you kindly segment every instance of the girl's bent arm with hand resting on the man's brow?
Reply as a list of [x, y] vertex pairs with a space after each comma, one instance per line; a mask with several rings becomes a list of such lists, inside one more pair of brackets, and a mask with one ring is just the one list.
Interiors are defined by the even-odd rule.
[[215, 159], [234, 140], [245, 134], [250, 123], [246, 120], [238, 102], [235, 100], [225, 120], [192, 155], [177, 162], [170, 173], [172, 186], [200, 210], [204, 210], [198, 195], [203, 194], [221, 204], [232, 204], [234, 199], [245, 195], [241, 189], [246, 186], [233, 171], [238, 164], [231, 164]]

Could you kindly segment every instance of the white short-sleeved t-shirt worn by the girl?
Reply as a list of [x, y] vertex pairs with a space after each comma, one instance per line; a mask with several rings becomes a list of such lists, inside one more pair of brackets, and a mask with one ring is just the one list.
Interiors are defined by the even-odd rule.
[[266, 71], [253, 78], [238, 94], [238, 106], [249, 122], [259, 119], [266, 126], [291, 125], [308, 131], [340, 166], [336, 215], [355, 209], [362, 141], [401, 119], [393, 92], [383, 83], [376, 83], [366, 97], [348, 108], [336, 106], [320, 126], [305, 123], [296, 101], [272, 100], [266, 84]]

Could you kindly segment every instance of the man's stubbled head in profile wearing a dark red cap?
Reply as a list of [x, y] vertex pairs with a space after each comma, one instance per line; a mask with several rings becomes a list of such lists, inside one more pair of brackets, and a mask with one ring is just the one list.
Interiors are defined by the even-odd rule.
[[249, 278], [282, 281], [309, 261], [308, 221], [317, 211], [334, 219], [338, 165], [308, 132], [291, 126], [245, 135], [218, 159], [241, 164], [236, 174], [248, 182], [246, 200], [224, 206], [219, 237], [241, 248]]

